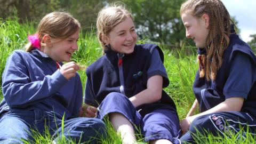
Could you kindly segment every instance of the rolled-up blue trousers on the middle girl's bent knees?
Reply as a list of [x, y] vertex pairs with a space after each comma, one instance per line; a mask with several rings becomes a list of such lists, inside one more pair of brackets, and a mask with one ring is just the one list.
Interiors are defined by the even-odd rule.
[[140, 130], [145, 136], [145, 141], [167, 139], [180, 143], [179, 118], [175, 111], [156, 108], [142, 117], [125, 95], [112, 92], [100, 103], [98, 118], [103, 119], [110, 113], [124, 115], [133, 124], [134, 130]]

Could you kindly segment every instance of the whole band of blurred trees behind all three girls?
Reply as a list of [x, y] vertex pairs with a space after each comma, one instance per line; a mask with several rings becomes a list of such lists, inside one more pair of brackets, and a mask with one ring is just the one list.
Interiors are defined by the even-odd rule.
[[[121, 0], [131, 10], [138, 39], [157, 42], [169, 49], [194, 46], [185, 37], [185, 28], [180, 19], [180, 5], [185, 0]], [[52, 11], [68, 11], [77, 18], [84, 32], [96, 32], [97, 14], [103, 6], [114, 0], [0, 0], [0, 19], [17, 17], [19, 22], [33, 21], [37, 26], [42, 17]], [[235, 23], [237, 21], [232, 18]], [[239, 34], [239, 29], [238, 29]], [[255, 50], [256, 36], [249, 44]], [[189, 52], [190, 53], [190, 52]]]

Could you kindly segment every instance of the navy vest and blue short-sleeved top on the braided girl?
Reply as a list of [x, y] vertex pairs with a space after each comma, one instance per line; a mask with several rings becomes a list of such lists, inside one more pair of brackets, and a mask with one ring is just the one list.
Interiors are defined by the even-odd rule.
[[238, 35], [230, 35], [221, 68], [215, 81], [196, 74], [193, 91], [200, 110], [208, 110], [227, 98], [244, 98], [242, 110], [256, 117], [256, 57]]

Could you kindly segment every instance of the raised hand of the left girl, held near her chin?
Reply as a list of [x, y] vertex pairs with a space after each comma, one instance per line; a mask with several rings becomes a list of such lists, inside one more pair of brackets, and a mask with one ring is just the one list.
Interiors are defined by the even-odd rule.
[[60, 68], [60, 73], [66, 79], [69, 79], [71, 77], [76, 76], [77, 70], [79, 70], [79, 66], [74, 61], [71, 61], [62, 65], [62, 67]]

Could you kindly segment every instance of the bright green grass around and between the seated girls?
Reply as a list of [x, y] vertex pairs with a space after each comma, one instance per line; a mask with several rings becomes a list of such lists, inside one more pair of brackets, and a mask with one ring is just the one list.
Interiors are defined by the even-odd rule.
[[[34, 34], [36, 31], [34, 23], [25, 23], [20, 25], [17, 20], [0, 20], [0, 75], [2, 82], [2, 73], [5, 67], [6, 59], [12, 51], [22, 49], [27, 43], [27, 34]], [[78, 41], [79, 50], [73, 55], [73, 60], [84, 65], [90, 65], [98, 59], [102, 50], [94, 33], [81, 34]], [[195, 97], [191, 89], [194, 81], [194, 75], [197, 70], [196, 55], [186, 55], [186, 49], [182, 48], [177, 51], [170, 51], [167, 47], [162, 47], [165, 55], [164, 65], [170, 79], [170, 85], [165, 91], [174, 100], [178, 108], [180, 119], [185, 118]], [[190, 49], [196, 50], [195, 47]], [[83, 87], [86, 81], [85, 71], [78, 71], [81, 76]], [[2, 84], [1, 84], [2, 87]], [[2, 88], [0, 100], [2, 100]], [[108, 137], [101, 139], [102, 143], [121, 143], [121, 139], [115, 133], [111, 125], [107, 122]], [[240, 133], [241, 134], [241, 133]], [[239, 135], [239, 133], [238, 133]], [[246, 138], [239, 137], [235, 134], [227, 137], [203, 137], [198, 135], [198, 143], [255, 143], [253, 135], [246, 133]], [[34, 133], [35, 143], [50, 143], [53, 139], [50, 134]], [[138, 135], [138, 141], [143, 142], [141, 135]], [[25, 142], [29, 143], [29, 142]], [[67, 143], [63, 140], [60, 143]]]

